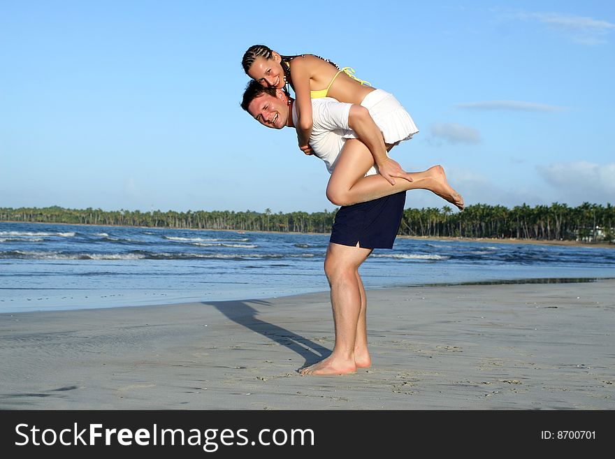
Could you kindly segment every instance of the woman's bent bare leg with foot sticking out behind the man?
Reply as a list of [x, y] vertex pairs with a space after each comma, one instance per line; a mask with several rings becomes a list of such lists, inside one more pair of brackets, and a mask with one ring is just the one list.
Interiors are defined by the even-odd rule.
[[398, 178], [391, 185], [382, 175], [365, 177], [373, 165], [374, 158], [361, 140], [347, 140], [327, 185], [328, 200], [335, 205], [352, 205], [400, 191], [426, 189], [463, 210], [463, 198], [449, 185], [442, 166], [412, 173], [413, 182]]

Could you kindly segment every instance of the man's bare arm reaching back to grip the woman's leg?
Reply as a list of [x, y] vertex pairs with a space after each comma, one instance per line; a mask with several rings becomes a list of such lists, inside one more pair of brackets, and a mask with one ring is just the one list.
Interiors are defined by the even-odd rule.
[[389, 180], [392, 185], [395, 184], [393, 177], [400, 177], [412, 182], [410, 174], [406, 173], [397, 161], [386, 155], [382, 132], [380, 132], [367, 108], [352, 104], [348, 115], [348, 126], [356, 133], [361, 142], [370, 149], [372, 156], [374, 156], [374, 163], [382, 177]]

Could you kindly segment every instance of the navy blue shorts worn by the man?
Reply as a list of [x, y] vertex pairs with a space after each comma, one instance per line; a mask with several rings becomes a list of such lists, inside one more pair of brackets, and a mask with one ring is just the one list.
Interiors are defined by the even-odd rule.
[[335, 214], [329, 242], [366, 249], [391, 249], [406, 202], [400, 191], [367, 203], [344, 205]]

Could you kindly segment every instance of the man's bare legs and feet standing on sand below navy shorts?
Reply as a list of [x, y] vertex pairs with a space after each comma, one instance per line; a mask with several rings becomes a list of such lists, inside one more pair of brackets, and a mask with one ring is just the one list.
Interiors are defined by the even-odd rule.
[[[372, 249], [349, 247], [331, 243], [328, 246], [324, 261], [324, 270], [331, 286], [331, 306], [333, 307], [333, 322], [335, 324], [335, 347], [331, 356], [319, 363], [300, 370], [301, 374], [347, 374], [356, 371], [355, 347], [357, 328], [361, 349], [361, 360], [365, 361], [367, 337], [365, 311], [363, 323], [361, 309], [365, 303], [365, 290], [359, 277], [359, 266], [372, 253]], [[363, 297], [363, 300], [362, 300]], [[368, 355], [369, 358], [369, 355]]]

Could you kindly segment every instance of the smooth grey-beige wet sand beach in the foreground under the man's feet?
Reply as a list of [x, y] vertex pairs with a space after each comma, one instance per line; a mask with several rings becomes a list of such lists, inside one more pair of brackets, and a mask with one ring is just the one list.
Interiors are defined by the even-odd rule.
[[0, 314], [0, 409], [615, 409], [615, 280], [368, 291], [373, 365], [328, 293]]

